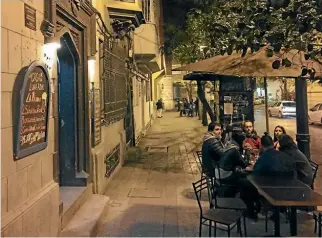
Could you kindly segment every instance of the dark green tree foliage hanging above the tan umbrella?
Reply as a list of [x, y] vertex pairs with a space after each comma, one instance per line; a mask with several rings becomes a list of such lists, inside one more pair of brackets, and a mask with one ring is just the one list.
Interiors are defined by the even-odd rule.
[[[322, 57], [322, 0], [217, 0], [188, 13], [186, 37], [174, 49], [181, 63], [191, 63], [215, 55], [245, 56], [267, 46], [267, 56], [281, 50], [305, 52], [306, 60]], [[277, 62], [278, 61], [278, 62]], [[287, 57], [273, 68], [290, 67]], [[314, 69], [303, 69], [314, 76]]]

